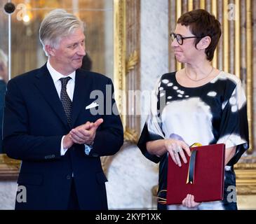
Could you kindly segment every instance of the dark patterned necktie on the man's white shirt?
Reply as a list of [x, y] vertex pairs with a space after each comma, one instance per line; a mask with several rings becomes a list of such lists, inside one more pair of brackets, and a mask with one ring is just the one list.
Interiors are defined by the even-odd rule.
[[61, 81], [61, 91], [60, 91], [60, 101], [62, 102], [63, 109], [67, 116], [67, 123], [71, 123], [71, 111], [72, 111], [72, 101], [67, 94], [67, 83], [71, 79], [70, 77], [67, 78], [60, 78]]

